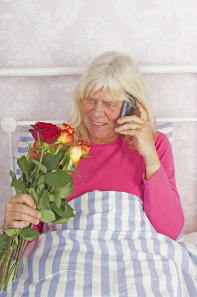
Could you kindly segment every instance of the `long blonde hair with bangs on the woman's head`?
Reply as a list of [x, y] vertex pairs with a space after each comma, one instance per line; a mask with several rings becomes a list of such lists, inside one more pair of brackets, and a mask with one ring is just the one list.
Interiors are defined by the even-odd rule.
[[[129, 55], [115, 50], [104, 52], [96, 57], [83, 73], [76, 87], [75, 102], [68, 118], [68, 124], [75, 128], [75, 135], [78, 139], [89, 141], [88, 130], [82, 121], [81, 102], [100, 90], [109, 99], [127, 100], [131, 105], [132, 102], [126, 96], [126, 92], [135, 97], [146, 110], [154, 139], [156, 139], [155, 118], [138, 64]], [[138, 109], [135, 109], [134, 114], [140, 116]], [[131, 148], [132, 137], [124, 136], [125, 144]]]

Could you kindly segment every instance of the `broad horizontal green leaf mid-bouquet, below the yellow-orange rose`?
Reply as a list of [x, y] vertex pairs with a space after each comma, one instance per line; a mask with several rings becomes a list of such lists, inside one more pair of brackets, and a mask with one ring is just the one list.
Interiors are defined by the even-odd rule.
[[72, 176], [63, 171], [48, 172], [44, 176], [45, 184], [51, 187], [64, 187], [72, 181]]

